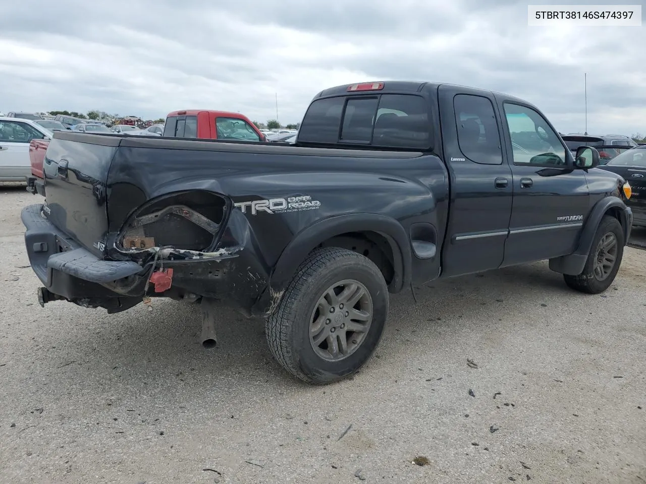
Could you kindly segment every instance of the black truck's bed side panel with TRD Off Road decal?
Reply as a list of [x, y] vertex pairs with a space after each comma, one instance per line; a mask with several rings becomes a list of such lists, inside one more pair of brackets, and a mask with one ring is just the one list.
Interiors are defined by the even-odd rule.
[[[448, 181], [435, 156], [216, 143], [124, 139], [108, 177], [108, 239], [151, 199], [185, 190], [220, 194], [234, 208], [214, 253], [225, 250], [240, 259], [228, 262], [236, 272], [228, 292], [257, 297], [294, 237], [328, 217], [384, 214], [404, 228], [432, 221], [443, 237], [446, 207], [437, 208], [448, 203]], [[208, 259], [194, 256], [200, 264]], [[178, 278], [176, 268], [174, 274]], [[271, 291], [273, 308], [282, 289]], [[253, 297], [244, 299], [248, 305]]]

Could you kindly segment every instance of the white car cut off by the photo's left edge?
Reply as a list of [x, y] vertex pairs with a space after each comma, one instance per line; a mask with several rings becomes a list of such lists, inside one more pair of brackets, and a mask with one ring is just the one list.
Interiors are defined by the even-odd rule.
[[29, 143], [54, 133], [31, 119], [0, 117], [0, 181], [26, 181], [32, 174]]

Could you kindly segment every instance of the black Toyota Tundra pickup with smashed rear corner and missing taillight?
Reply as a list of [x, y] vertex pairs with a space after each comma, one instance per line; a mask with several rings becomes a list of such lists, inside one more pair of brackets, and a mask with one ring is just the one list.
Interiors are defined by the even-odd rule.
[[41, 305], [200, 303], [211, 346], [227, 305], [322, 384], [373, 354], [389, 292], [543, 259], [575, 290], [608, 288], [632, 212], [598, 163], [521, 99], [360, 83], [320, 92], [289, 146], [57, 132], [46, 201], [22, 219]]

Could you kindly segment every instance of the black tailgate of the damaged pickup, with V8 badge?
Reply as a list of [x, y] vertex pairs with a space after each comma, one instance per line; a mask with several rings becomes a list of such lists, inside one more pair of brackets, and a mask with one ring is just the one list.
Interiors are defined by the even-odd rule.
[[45, 154], [48, 220], [98, 257], [108, 229], [105, 185], [120, 141], [112, 135], [57, 132]]

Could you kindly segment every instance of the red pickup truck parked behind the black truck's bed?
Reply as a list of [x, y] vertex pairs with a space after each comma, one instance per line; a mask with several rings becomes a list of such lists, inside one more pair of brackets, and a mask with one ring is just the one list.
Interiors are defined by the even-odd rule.
[[[266, 136], [244, 114], [205, 109], [169, 113], [162, 136], [229, 141], [267, 141]], [[49, 141], [43, 139], [34, 139], [29, 145], [32, 176], [27, 178], [27, 191], [32, 194], [45, 196], [43, 161], [48, 145]]]

